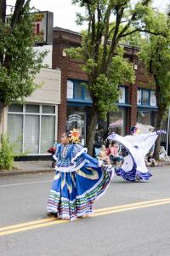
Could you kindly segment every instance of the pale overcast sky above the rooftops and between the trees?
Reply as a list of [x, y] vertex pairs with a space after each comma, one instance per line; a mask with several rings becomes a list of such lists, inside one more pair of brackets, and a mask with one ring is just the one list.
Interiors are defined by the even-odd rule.
[[[133, 0], [132, 2], [138, 2]], [[170, 0], [154, 0], [154, 7], [158, 9], [166, 9]], [[14, 5], [14, 0], [7, 0], [8, 4]], [[71, 29], [75, 32], [81, 31], [85, 26], [77, 26], [76, 13], [80, 12], [80, 8], [71, 4], [71, 0], [31, 0], [31, 6], [42, 11], [51, 11], [54, 13], [54, 26]]]

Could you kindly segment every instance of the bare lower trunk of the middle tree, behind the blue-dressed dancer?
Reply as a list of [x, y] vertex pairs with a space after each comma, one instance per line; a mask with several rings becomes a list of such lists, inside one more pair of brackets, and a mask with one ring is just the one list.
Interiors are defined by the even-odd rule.
[[95, 129], [96, 129], [97, 123], [98, 123], [98, 110], [95, 107], [95, 103], [93, 103], [91, 115], [89, 119], [88, 136], [87, 136], [88, 154], [90, 155], [93, 155], [94, 135], [95, 135]]

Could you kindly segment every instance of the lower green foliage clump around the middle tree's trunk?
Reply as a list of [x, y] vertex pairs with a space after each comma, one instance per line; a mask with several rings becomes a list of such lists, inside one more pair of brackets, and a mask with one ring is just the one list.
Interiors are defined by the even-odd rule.
[[[102, 52], [103, 46], [100, 47]], [[101, 119], [106, 119], [106, 115], [111, 110], [116, 110], [116, 102], [119, 96], [119, 85], [125, 82], [133, 83], [135, 76], [133, 71], [133, 64], [129, 63], [123, 58], [122, 47], [117, 48], [116, 55], [113, 56], [111, 65], [109, 67], [109, 73], [100, 73], [98, 70], [101, 63], [95, 62], [94, 59], [89, 58], [86, 60], [82, 48], [70, 48], [65, 49], [66, 52], [77, 61], [82, 61], [82, 70], [88, 74], [90, 83], [88, 84], [88, 90], [95, 101], [95, 107], [99, 112]], [[101, 57], [101, 55], [99, 55]], [[94, 68], [98, 75], [94, 79]]]

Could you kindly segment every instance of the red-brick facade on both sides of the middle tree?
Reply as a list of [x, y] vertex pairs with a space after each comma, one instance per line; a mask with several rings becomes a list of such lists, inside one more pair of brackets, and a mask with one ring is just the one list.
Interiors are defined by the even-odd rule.
[[[67, 119], [67, 79], [88, 80], [80, 68], [80, 63], [71, 61], [68, 56], [63, 55], [63, 50], [69, 47], [77, 47], [81, 44], [81, 36], [77, 32], [54, 28], [53, 68], [61, 70], [61, 104], [59, 105], [58, 137], [65, 131]], [[137, 90], [138, 88], [154, 88], [154, 83], [144, 69], [144, 64], [139, 61], [139, 49], [135, 47], [125, 48], [126, 57], [137, 65], [136, 80], [134, 84], [126, 84], [129, 87], [129, 103], [127, 125], [135, 125], [137, 121]], [[128, 131], [127, 131], [128, 132]]]

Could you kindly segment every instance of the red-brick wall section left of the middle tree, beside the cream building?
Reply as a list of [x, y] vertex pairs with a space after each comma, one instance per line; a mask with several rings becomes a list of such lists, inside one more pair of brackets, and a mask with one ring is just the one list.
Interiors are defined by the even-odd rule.
[[81, 37], [70, 32], [54, 31], [53, 68], [61, 71], [61, 103], [59, 105], [58, 138], [66, 129], [67, 120], [67, 79], [88, 80], [80, 63], [64, 56], [64, 49], [80, 45]]

